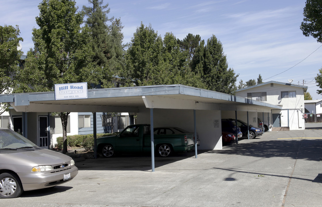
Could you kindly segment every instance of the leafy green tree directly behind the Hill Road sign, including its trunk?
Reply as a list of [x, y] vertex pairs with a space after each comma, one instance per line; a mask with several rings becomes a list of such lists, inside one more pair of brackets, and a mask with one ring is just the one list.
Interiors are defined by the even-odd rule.
[[[54, 84], [88, 82], [97, 85], [102, 77], [92, 63], [89, 29], [81, 28], [84, 14], [74, 0], [43, 0], [33, 29], [34, 50], [27, 53], [24, 70], [17, 74], [15, 92], [53, 91]], [[30, 87], [29, 87], [30, 86]], [[67, 118], [58, 113], [63, 127], [63, 153], [67, 152]]]

